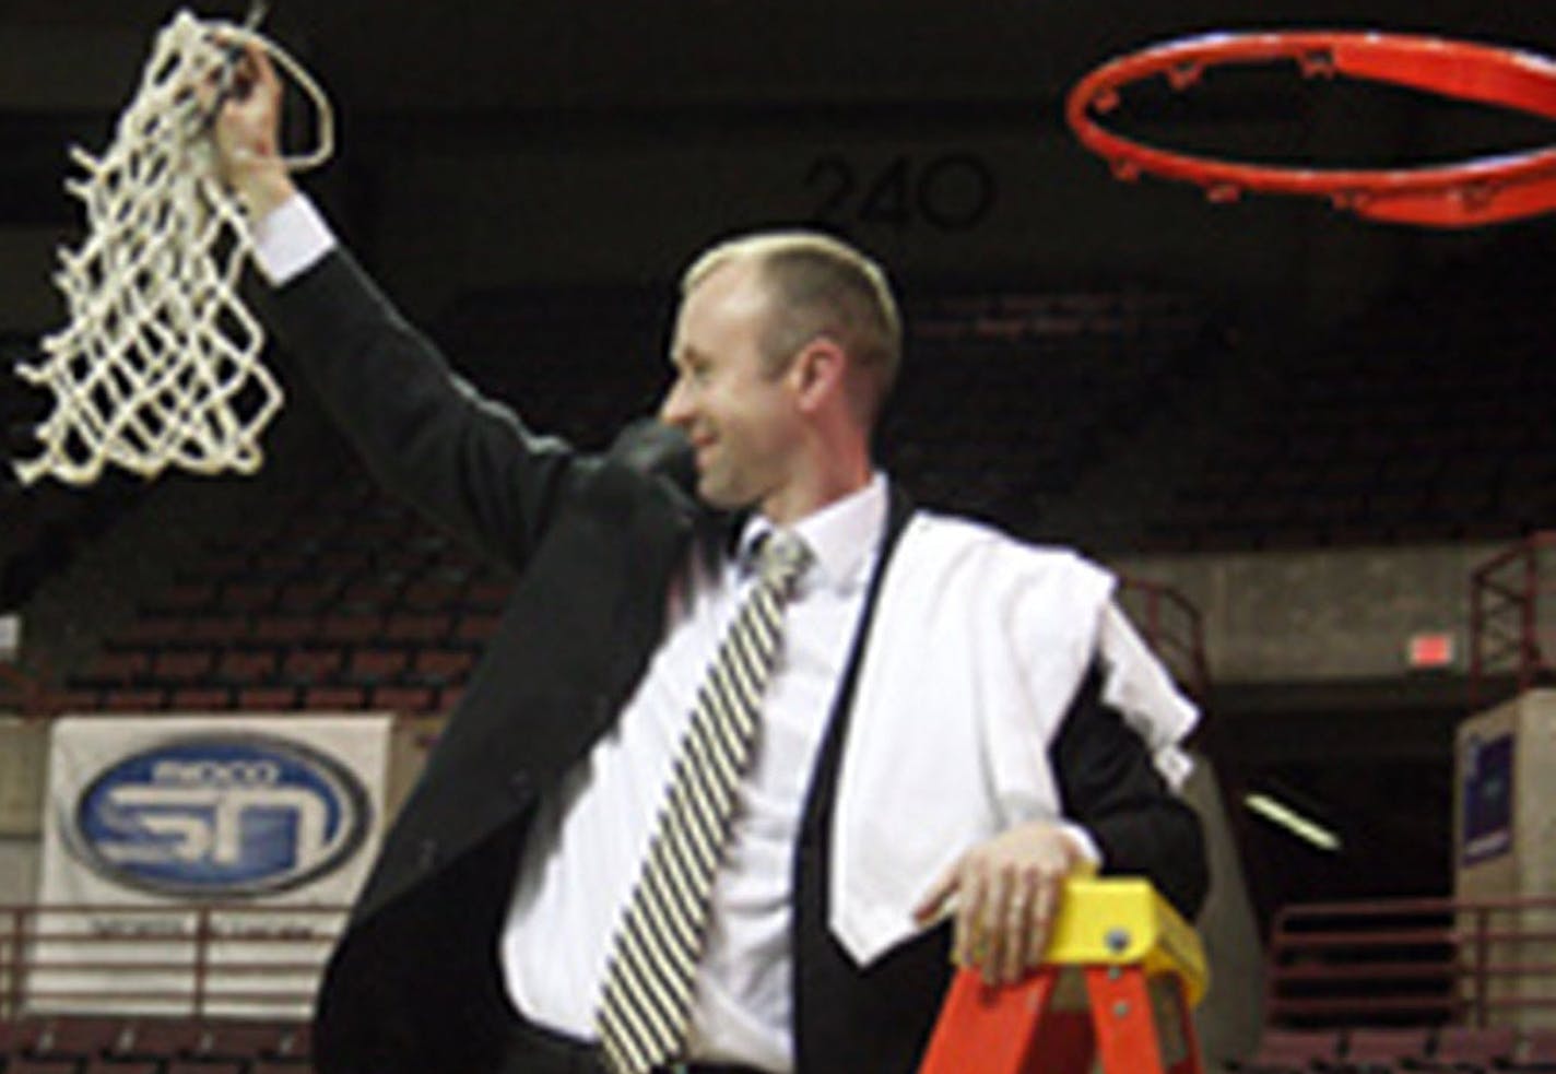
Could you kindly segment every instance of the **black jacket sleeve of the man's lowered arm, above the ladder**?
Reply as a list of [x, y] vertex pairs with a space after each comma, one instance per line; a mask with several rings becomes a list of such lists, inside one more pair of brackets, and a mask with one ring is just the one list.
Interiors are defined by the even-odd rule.
[[1102, 685], [1092, 666], [1049, 747], [1064, 816], [1097, 841], [1105, 873], [1147, 876], [1192, 921], [1209, 887], [1200, 817], [1103, 702]]

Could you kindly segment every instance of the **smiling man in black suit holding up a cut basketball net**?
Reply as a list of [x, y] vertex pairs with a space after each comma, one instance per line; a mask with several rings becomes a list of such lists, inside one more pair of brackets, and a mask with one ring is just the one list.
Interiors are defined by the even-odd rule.
[[[716, 247], [683, 280], [661, 426], [579, 456], [336, 246], [247, 62], [216, 140], [271, 324], [380, 479], [521, 571], [331, 959], [321, 1071], [910, 1071], [949, 960], [1021, 976], [1066, 876], [1145, 873], [1197, 909], [1169, 786], [1192, 710], [1111, 579], [915, 512], [873, 465], [901, 335], [874, 265], [808, 233]], [[769, 546], [801, 549], [772, 588]], [[705, 668], [758, 590], [781, 641], [719, 672], [752, 676], [730, 700]], [[683, 756], [742, 705], [748, 739], [710, 732], [738, 764]], [[711, 890], [661, 853], [688, 845], [677, 795], [716, 833], [685, 855]], [[644, 895], [664, 884], [685, 906]]]

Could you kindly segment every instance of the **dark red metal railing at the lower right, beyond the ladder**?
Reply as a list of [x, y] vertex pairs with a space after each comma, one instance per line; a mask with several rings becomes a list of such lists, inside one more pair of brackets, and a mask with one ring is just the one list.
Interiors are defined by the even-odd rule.
[[1273, 1026], [1556, 1026], [1556, 897], [1288, 906], [1265, 988]]

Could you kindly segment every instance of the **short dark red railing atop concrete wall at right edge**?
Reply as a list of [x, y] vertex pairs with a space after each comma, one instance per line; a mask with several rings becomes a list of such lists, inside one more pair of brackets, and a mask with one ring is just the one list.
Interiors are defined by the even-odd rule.
[[1556, 677], [1556, 531], [1533, 534], [1470, 573], [1470, 705], [1488, 702], [1488, 680], [1511, 677], [1519, 693]]

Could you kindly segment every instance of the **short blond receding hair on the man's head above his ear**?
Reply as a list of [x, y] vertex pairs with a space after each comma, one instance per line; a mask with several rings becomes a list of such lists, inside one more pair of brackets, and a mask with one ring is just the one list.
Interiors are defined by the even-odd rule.
[[756, 232], [692, 261], [682, 276], [682, 297], [733, 261], [755, 261], [767, 290], [762, 356], [770, 367], [781, 370], [804, 344], [826, 336], [850, 356], [850, 397], [860, 422], [873, 426], [902, 363], [902, 319], [881, 266], [820, 232]]

